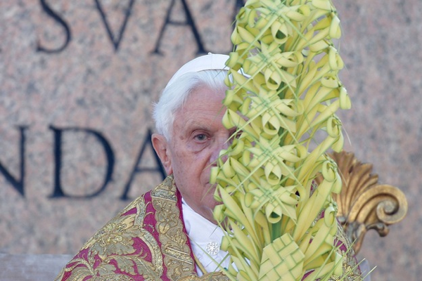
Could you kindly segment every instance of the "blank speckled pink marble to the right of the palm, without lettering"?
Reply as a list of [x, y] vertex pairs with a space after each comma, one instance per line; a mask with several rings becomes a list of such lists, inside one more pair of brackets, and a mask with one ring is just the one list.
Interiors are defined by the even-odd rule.
[[335, 2], [344, 30], [342, 77], [353, 102], [341, 115], [350, 150], [409, 202], [407, 217], [387, 237], [369, 231], [360, 256], [376, 266], [372, 280], [420, 280], [422, 2]]

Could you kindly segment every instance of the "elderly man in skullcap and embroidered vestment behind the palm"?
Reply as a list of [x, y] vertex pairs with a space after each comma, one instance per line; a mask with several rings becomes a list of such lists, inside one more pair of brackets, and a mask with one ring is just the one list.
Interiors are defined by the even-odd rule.
[[56, 280], [228, 280], [209, 183], [234, 133], [222, 125], [227, 58], [204, 55], [174, 74], [155, 105], [152, 138], [169, 176], [99, 230]]

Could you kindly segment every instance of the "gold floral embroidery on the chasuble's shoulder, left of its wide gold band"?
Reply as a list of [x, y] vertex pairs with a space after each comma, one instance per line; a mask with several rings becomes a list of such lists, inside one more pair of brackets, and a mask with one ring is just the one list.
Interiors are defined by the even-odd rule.
[[[136, 207], [136, 214], [124, 215]], [[60, 273], [56, 280], [61, 280], [66, 272], [72, 272], [68, 281], [83, 280], [119, 280], [132, 281], [130, 275], [142, 275], [144, 280], [160, 280], [164, 268], [162, 267], [162, 254], [158, 242], [151, 233], [143, 229], [143, 217], [146, 214], [144, 197], [139, 197], [129, 204], [115, 218], [84, 244], [87, 256], [73, 259]], [[143, 216], [140, 218], [140, 216]], [[146, 246], [141, 252], [136, 253], [134, 239], [139, 238]], [[149, 252], [147, 252], [149, 250]], [[81, 253], [82, 253], [81, 251]], [[146, 256], [151, 254], [151, 262], [146, 261]], [[98, 256], [99, 259], [96, 258]], [[114, 261], [111, 263], [111, 261]], [[96, 268], [94, 269], [94, 265]], [[136, 268], [136, 270], [135, 270]], [[119, 274], [118, 272], [122, 274]], [[137, 271], [137, 273], [136, 273]]]

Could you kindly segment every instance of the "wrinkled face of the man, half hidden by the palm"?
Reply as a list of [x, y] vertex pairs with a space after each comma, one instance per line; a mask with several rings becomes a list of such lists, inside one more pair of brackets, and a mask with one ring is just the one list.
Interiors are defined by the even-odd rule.
[[[154, 148], [167, 174], [174, 174], [182, 197], [209, 221], [215, 221], [212, 209], [216, 204], [210, 169], [216, 166], [220, 150], [227, 148], [227, 140], [233, 133], [222, 125], [223, 98], [224, 91], [199, 86], [176, 113], [170, 143], [162, 136], [153, 136]], [[160, 143], [165, 143], [162, 149], [158, 147], [158, 138]]]

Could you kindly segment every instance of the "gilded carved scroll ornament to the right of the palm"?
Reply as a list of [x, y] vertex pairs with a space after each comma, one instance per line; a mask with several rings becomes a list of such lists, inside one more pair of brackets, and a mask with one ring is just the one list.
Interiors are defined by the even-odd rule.
[[399, 188], [378, 184], [378, 175], [371, 174], [372, 164], [362, 164], [352, 152], [333, 152], [329, 156], [338, 164], [343, 180], [342, 191], [333, 195], [338, 204], [337, 217], [357, 254], [366, 231], [374, 229], [383, 237], [388, 235], [388, 226], [402, 221], [407, 200]]

